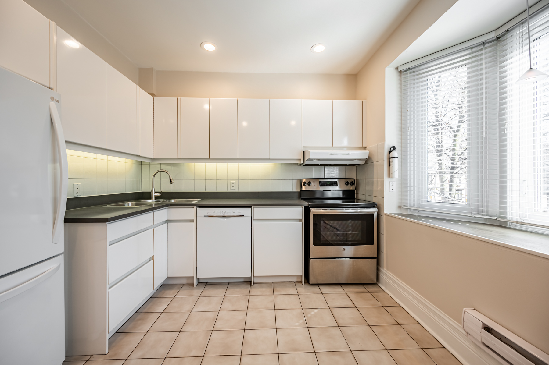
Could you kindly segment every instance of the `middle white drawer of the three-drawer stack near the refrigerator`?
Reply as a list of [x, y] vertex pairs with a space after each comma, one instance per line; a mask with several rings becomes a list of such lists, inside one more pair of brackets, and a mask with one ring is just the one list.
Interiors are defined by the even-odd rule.
[[153, 230], [122, 239], [108, 248], [109, 284], [154, 255]]

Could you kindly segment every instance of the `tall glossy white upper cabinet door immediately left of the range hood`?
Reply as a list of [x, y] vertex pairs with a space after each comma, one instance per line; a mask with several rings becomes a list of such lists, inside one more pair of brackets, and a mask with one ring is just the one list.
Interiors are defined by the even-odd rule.
[[270, 158], [301, 158], [301, 100], [271, 99]]

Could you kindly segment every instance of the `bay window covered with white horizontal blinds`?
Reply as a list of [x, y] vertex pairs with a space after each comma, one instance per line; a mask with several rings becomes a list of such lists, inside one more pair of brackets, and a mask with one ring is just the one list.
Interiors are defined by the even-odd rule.
[[[549, 8], [530, 23], [532, 66], [549, 73]], [[549, 78], [517, 85], [528, 68], [518, 24], [402, 70], [404, 207], [549, 228]]]

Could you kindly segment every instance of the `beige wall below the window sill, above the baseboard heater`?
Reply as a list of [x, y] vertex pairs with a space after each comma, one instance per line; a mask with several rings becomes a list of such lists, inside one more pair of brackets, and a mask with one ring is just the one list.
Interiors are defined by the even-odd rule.
[[461, 324], [478, 310], [549, 353], [549, 260], [385, 215], [385, 269]]

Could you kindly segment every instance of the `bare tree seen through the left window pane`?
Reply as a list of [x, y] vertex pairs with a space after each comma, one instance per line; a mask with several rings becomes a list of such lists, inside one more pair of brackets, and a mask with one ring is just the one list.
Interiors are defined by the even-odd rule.
[[467, 67], [426, 84], [427, 201], [467, 204]]

